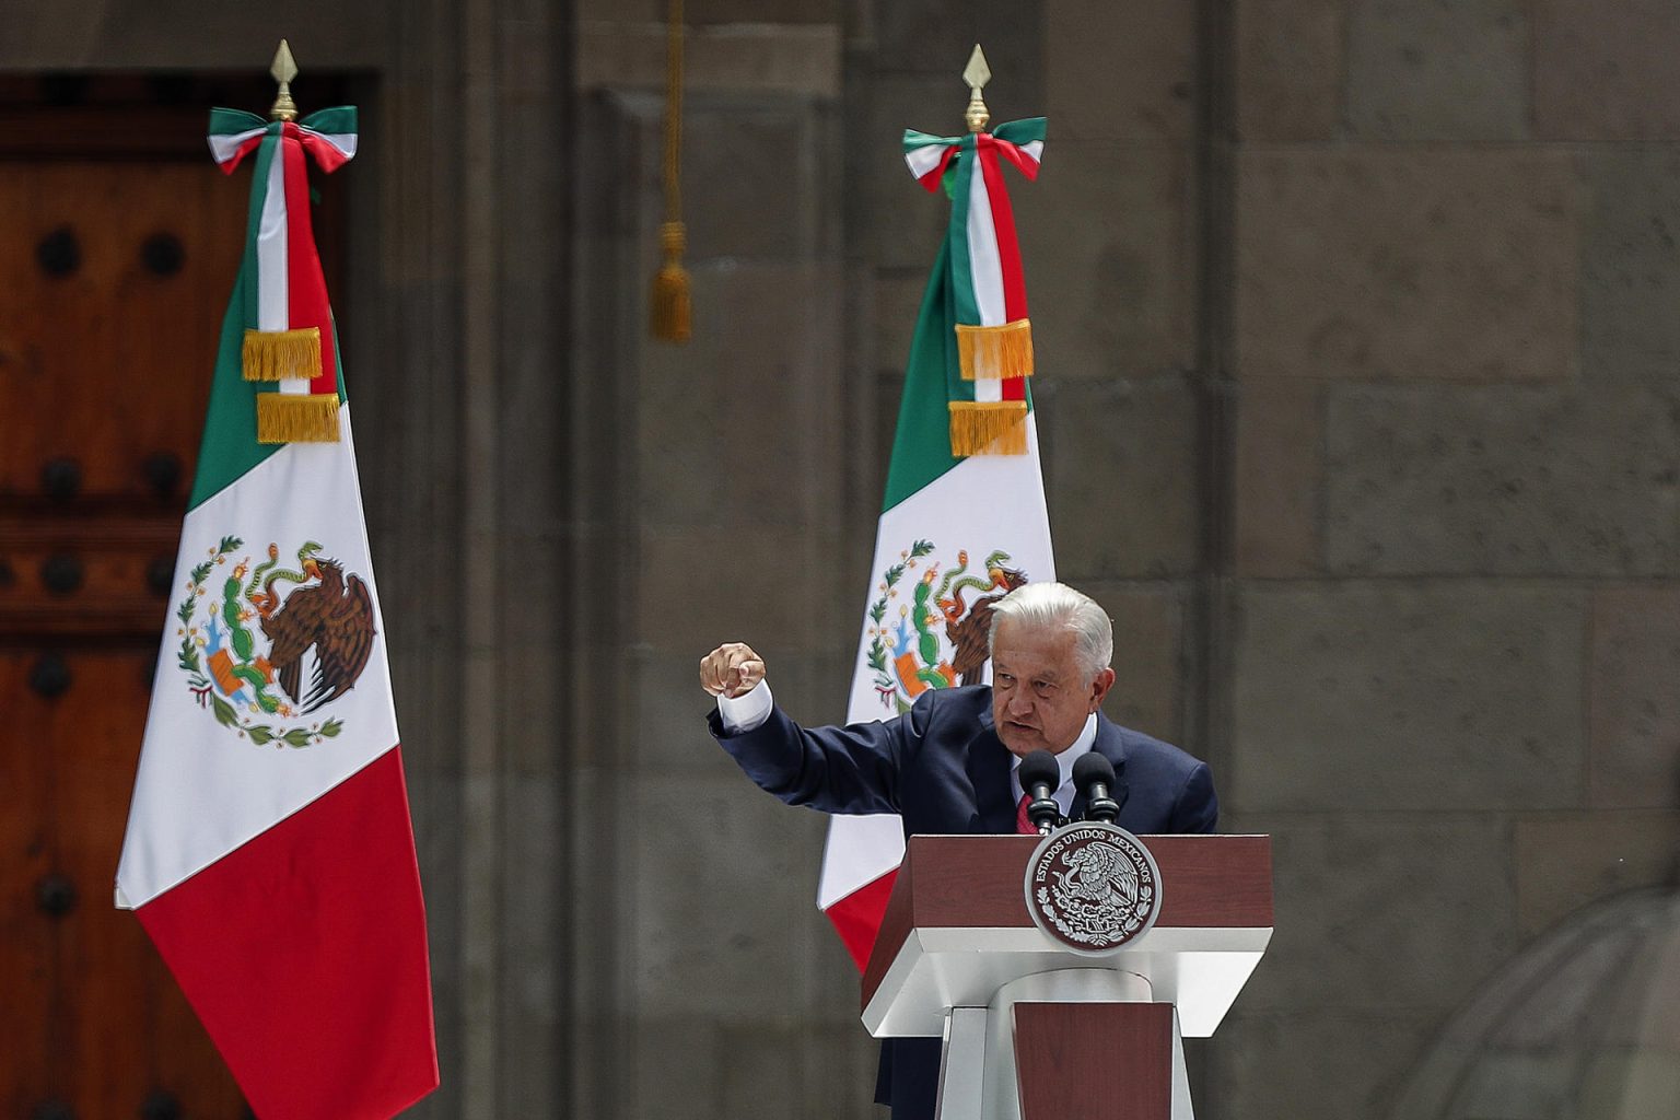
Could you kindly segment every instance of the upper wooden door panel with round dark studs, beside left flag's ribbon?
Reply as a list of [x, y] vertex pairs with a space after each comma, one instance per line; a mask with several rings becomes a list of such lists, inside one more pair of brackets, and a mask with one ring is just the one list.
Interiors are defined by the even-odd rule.
[[244, 183], [210, 163], [0, 163], [0, 495], [170, 499], [188, 482]]

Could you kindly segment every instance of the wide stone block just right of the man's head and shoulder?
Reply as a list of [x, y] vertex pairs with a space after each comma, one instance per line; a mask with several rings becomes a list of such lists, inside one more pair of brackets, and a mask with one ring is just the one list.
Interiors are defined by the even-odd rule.
[[1247, 584], [1233, 809], [1571, 808], [1584, 794], [1584, 593]]

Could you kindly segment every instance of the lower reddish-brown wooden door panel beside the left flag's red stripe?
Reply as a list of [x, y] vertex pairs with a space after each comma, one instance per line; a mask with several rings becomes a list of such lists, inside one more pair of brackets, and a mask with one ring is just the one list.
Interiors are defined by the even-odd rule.
[[0, 648], [5, 1115], [133, 1117], [158, 1093], [190, 1117], [242, 1110], [139, 922], [113, 907], [150, 663], [150, 648]]

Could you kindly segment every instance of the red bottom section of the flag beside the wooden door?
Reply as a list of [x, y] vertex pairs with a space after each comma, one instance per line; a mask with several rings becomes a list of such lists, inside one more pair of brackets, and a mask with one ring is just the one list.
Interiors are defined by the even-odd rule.
[[264, 1120], [390, 1120], [437, 1088], [398, 749], [134, 913]]

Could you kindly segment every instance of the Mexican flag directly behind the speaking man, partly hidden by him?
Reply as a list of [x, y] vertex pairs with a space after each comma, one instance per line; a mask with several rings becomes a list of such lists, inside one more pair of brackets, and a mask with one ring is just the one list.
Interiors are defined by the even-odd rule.
[[[847, 722], [894, 719], [927, 688], [990, 682], [993, 603], [1055, 579], [1003, 171], [1037, 178], [1043, 134], [1043, 118], [961, 138], [904, 134], [911, 173], [944, 188], [951, 223], [911, 343]], [[816, 905], [858, 969], [902, 858], [897, 816], [832, 818]]]

